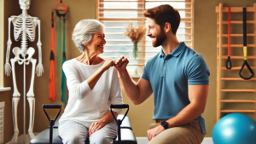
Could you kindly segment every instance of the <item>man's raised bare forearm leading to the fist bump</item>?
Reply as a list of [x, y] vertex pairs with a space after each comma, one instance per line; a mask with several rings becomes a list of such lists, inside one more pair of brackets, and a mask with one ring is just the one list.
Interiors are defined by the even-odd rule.
[[130, 100], [133, 103], [136, 104], [140, 95], [140, 91], [137, 87], [137, 84], [133, 82], [126, 68], [124, 71], [119, 72], [119, 76], [122, 80], [122, 84], [124, 86], [126, 95], [130, 98]]

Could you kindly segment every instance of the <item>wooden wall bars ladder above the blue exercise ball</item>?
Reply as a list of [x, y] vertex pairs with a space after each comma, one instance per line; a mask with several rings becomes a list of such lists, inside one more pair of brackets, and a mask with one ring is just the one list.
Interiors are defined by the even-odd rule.
[[[225, 113], [229, 113], [229, 112], [253, 112], [255, 113], [256, 112], [256, 107], [253, 109], [253, 110], [248, 110], [248, 109], [244, 109], [242, 110], [241, 108], [237, 108], [236, 109], [224, 109], [224, 108], [221, 108], [221, 104], [224, 104], [224, 103], [253, 103], [255, 104], [256, 103], [256, 100], [223, 100], [221, 99], [221, 95], [228, 95], [227, 93], [236, 93], [237, 95], [241, 95], [241, 93], [256, 93], [256, 88], [253, 89], [253, 88], [250, 88], [250, 89], [245, 89], [245, 88], [240, 88], [240, 89], [224, 89], [225, 88], [225, 82], [226, 81], [231, 81], [231, 82], [234, 82], [234, 81], [241, 81], [242, 83], [254, 83], [253, 81], [256, 81], [256, 78], [251, 78], [249, 80], [245, 80], [245, 79], [242, 79], [239, 77], [238, 73], [241, 69], [241, 66], [236, 66], [236, 65], [233, 65], [232, 63], [232, 67], [231, 69], [227, 69], [225, 66], [222, 66], [224, 63], [224, 60], [226, 61], [228, 59], [228, 55], [223, 55], [222, 52], [223, 52], [223, 49], [224, 50], [228, 50], [228, 43], [225, 43], [223, 40], [228, 37], [228, 34], [227, 33], [224, 33], [224, 29], [223, 29], [223, 26], [225, 25], [224, 28], [226, 28], [226, 25], [229, 24], [228, 20], [223, 20], [223, 14], [227, 14], [228, 13], [228, 10], [229, 7], [223, 7], [223, 3], [219, 3], [218, 6], [216, 6], [216, 9], [215, 9], [215, 12], [217, 14], [217, 121], [219, 118], [221, 118], [221, 113], [222, 112], [225, 112]], [[233, 14], [233, 13], [242, 13], [242, 7], [230, 7], [230, 14]], [[255, 51], [255, 48], [256, 48], [256, 3], [253, 4], [253, 7], [247, 7], [247, 12], [253, 12], [253, 20], [246, 20], [247, 21], [247, 24], [249, 25], [252, 25], [253, 24], [253, 27], [254, 27], [254, 31], [251, 31], [251, 32], [247, 32], [247, 37], [253, 37], [254, 39], [254, 43], [249, 43], [247, 44], [247, 48], [248, 49], [252, 49]], [[230, 26], [234, 26], [234, 24], [239, 24], [239, 25], [235, 25], [235, 26], [242, 26], [243, 24], [243, 21], [242, 21], [242, 18], [241, 20], [230, 20]], [[226, 30], [226, 29], [225, 29]], [[243, 37], [243, 34], [241, 33], [236, 33], [236, 32], [233, 32], [231, 33], [230, 32], [230, 37], [239, 37], [242, 39]], [[234, 42], [230, 42], [230, 51], [231, 49], [233, 50], [236, 50], [236, 49], [243, 49], [243, 44], [234, 44]], [[249, 54], [249, 53], [248, 53]], [[255, 66], [255, 60], [256, 60], [256, 53], [254, 52], [253, 54], [249, 54], [247, 55], [247, 60], [253, 60], [254, 62], [254, 66], [253, 66], [253, 63], [252, 63], [252, 66], [251, 68], [253, 70], [256, 69], [256, 66]], [[244, 57], [243, 55], [230, 55], [230, 59], [231, 60], [244, 60]], [[230, 78], [227, 78], [228, 76], [225, 76], [225, 77], [222, 77], [222, 73], [225, 72], [225, 73], [228, 73], [229, 71], [232, 71], [232, 73], [234, 73], [234, 70], [235, 72], [237, 72], [237, 78], [234, 78], [236, 76], [230, 76]], [[247, 66], [244, 67], [244, 70], [247, 70]], [[254, 71], [255, 72], [255, 71]], [[229, 74], [227, 74], [229, 75]], [[241, 85], [242, 87], [243, 85]], [[230, 94], [229, 94], [230, 95]], [[233, 95], [233, 94], [232, 94]], [[254, 95], [254, 94], [248, 94], [248, 95]], [[254, 95], [254, 99], [255, 99], [255, 95]], [[223, 105], [222, 105], [223, 106]]]

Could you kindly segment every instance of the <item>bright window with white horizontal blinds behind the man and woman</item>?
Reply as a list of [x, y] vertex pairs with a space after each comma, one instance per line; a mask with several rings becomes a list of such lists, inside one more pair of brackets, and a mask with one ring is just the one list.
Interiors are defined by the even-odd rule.
[[129, 37], [125, 37], [125, 27], [130, 23], [133, 26], [147, 27], [143, 11], [161, 4], [170, 4], [179, 11], [182, 19], [177, 39], [193, 49], [193, 0], [96, 0], [96, 19], [106, 26], [107, 43], [100, 56], [114, 60], [117, 56], [124, 55], [130, 61], [127, 70], [131, 76], [141, 76], [144, 64], [159, 53], [161, 47], [152, 47], [151, 38], [145, 36], [137, 44], [137, 58], [133, 58], [133, 43]]

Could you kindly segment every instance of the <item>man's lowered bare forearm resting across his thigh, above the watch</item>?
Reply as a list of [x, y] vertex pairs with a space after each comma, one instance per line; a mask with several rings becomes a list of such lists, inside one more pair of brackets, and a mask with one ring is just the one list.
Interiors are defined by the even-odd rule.
[[198, 105], [196, 106], [196, 104], [190, 103], [187, 107], [184, 107], [181, 112], [177, 113], [175, 117], [166, 121], [168, 127], [172, 128], [183, 124], [189, 124], [189, 122], [201, 115], [203, 109], [203, 107], [198, 107]]

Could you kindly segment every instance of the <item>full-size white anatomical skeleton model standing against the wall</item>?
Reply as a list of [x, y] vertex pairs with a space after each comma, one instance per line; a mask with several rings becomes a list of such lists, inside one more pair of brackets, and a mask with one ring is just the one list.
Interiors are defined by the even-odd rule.
[[[29, 119], [29, 128], [28, 128], [28, 134], [31, 138], [33, 138], [35, 135], [33, 135], [33, 124], [34, 124], [34, 112], [35, 112], [35, 97], [33, 92], [33, 85], [34, 85], [34, 78], [35, 78], [35, 70], [37, 72], [38, 77], [42, 75], [42, 72], [44, 72], [44, 68], [42, 65], [42, 55], [41, 55], [41, 41], [40, 41], [40, 20], [38, 20], [37, 17], [32, 17], [27, 14], [27, 9], [29, 9], [31, 0], [19, 0], [20, 9], [22, 9], [22, 14], [20, 15], [13, 15], [10, 16], [9, 21], [9, 37], [7, 42], [7, 53], [6, 53], [6, 62], [5, 62], [5, 74], [7, 76], [10, 75], [10, 72], [12, 72], [13, 76], [13, 84], [14, 84], [14, 93], [13, 93], [13, 123], [14, 123], [14, 132], [12, 138], [12, 143], [17, 143], [17, 137], [19, 135], [18, 125], [17, 125], [17, 107], [18, 102], [20, 101], [20, 93], [17, 89], [16, 84], [16, 78], [15, 78], [15, 62], [18, 62], [19, 65], [23, 64], [24, 68], [24, 142], [25, 142], [25, 134], [26, 134], [26, 98], [29, 103], [29, 110], [30, 110], [30, 119]], [[13, 53], [15, 55], [14, 58], [10, 59], [11, 65], [9, 64], [9, 50], [12, 44], [12, 41], [10, 39], [10, 26], [11, 23], [14, 25], [14, 35], [15, 35], [15, 41], [19, 41], [21, 39], [21, 46], [15, 47], [13, 49]], [[27, 40], [33, 42], [35, 40], [36, 35], [36, 26], [38, 26], [38, 66], [36, 67], [37, 60], [32, 58], [32, 55], [35, 52], [35, 49], [32, 47], [27, 47]], [[26, 93], [25, 98], [25, 76], [26, 76], [26, 65], [29, 63], [32, 63], [32, 78], [30, 83], [30, 88], [28, 92]]]

